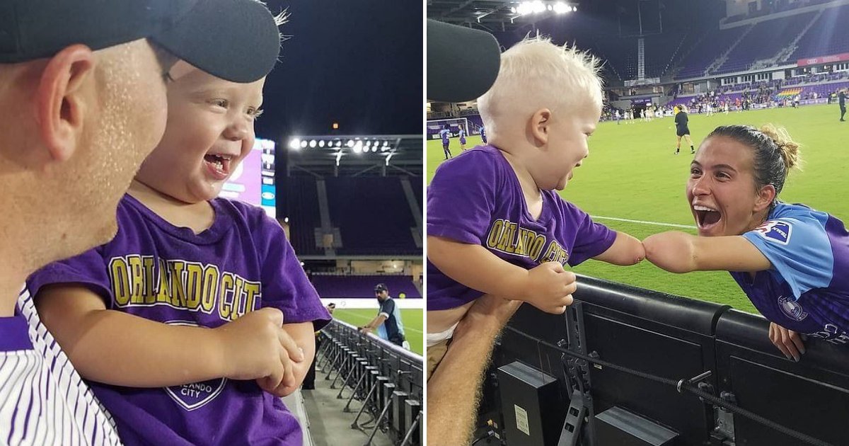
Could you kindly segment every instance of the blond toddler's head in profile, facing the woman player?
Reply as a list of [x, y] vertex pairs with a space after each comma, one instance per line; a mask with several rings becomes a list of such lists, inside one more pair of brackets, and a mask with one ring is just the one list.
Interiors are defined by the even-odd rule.
[[599, 60], [541, 37], [505, 51], [498, 78], [478, 99], [493, 144], [533, 149], [523, 163], [540, 189], [565, 188], [589, 154], [601, 104]]

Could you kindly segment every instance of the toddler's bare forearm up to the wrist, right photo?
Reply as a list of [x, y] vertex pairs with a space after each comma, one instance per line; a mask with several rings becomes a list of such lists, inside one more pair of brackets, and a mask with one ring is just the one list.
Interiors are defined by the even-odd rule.
[[477, 291], [511, 298], [525, 291], [528, 271], [504, 262], [483, 246], [429, 235], [427, 257], [443, 274]]

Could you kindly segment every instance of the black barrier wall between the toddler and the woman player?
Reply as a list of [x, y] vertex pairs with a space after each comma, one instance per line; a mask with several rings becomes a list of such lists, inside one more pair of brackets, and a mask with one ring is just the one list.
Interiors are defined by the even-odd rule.
[[498, 343], [481, 426], [502, 443], [849, 444], [849, 347], [795, 363], [762, 317], [578, 280], [565, 315], [524, 305]]

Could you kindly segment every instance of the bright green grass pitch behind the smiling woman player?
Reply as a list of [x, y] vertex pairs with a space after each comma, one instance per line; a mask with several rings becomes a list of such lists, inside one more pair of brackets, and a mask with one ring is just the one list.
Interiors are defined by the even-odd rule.
[[[791, 172], [780, 198], [804, 203], [829, 212], [844, 222], [849, 220], [846, 190], [849, 179], [849, 123], [839, 122], [836, 104], [812, 105], [801, 109], [751, 110], [728, 115], [689, 116], [689, 128], [698, 148], [701, 139], [720, 125], [772, 122], [784, 126], [802, 144], [803, 172]], [[627, 218], [644, 222], [693, 225], [684, 186], [689, 176], [689, 147], [675, 151], [672, 117], [631, 124], [601, 122], [590, 139], [590, 155], [575, 171], [560, 195], [580, 206], [599, 223], [632, 234], [642, 240], [649, 234], [676, 228], [648, 223], [628, 223], [600, 217]], [[469, 138], [467, 147], [481, 144], [479, 137]], [[451, 150], [458, 155], [457, 138]], [[428, 182], [443, 161], [439, 140], [427, 142]], [[682, 230], [682, 229], [676, 229]], [[687, 229], [683, 229], [687, 230]], [[689, 230], [695, 234], [695, 230]], [[739, 287], [725, 272], [671, 274], [648, 262], [633, 267], [616, 267], [588, 261], [574, 269], [576, 273], [615, 280], [657, 291], [696, 299], [727, 303], [739, 310], [756, 313]]]

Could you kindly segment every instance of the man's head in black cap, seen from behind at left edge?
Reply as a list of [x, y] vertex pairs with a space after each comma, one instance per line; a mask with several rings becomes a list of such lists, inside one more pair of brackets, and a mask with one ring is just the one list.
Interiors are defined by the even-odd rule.
[[254, 0], [0, 4], [0, 240], [24, 268], [110, 240], [117, 201], [164, 132], [171, 65], [255, 81], [278, 36]]

